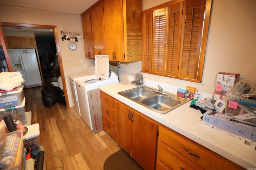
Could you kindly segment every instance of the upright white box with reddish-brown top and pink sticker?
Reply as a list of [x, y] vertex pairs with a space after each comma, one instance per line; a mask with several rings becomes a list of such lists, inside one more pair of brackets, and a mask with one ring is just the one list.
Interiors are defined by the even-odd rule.
[[236, 82], [239, 81], [240, 74], [230, 72], [219, 72], [217, 74], [215, 92], [226, 94]]

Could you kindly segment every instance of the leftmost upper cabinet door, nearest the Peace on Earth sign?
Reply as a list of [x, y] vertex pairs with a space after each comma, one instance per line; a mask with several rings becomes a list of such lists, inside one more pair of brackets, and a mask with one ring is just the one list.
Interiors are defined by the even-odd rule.
[[88, 59], [94, 59], [93, 42], [92, 42], [92, 25], [90, 12], [81, 16], [84, 35], [84, 53]]

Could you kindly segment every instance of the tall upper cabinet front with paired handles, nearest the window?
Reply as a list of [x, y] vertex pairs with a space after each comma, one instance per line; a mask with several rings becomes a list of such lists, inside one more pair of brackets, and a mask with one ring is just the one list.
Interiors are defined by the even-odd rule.
[[122, 0], [105, 0], [103, 6], [106, 54], [110, 61], [124, 61]]

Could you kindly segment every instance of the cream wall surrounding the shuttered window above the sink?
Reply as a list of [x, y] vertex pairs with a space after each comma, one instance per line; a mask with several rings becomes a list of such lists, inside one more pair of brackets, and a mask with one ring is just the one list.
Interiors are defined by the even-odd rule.
[[[169, 0], [143, 0], [143, 10]], [[256, 78], [256, 0], [213, 0], [202, 83], [144, 74], [145, 78], [199, 91], [214, 92], [218, 72], [240, 73], [240, 80]], [[128, 69], [128, 66], [132, 67]], [[122, 70], [124, 68], [124, 70]], [[121, 64], [120, 75], [138, 72], [141, 62]], [[126, 76], [120, 80], [127, 80]]]

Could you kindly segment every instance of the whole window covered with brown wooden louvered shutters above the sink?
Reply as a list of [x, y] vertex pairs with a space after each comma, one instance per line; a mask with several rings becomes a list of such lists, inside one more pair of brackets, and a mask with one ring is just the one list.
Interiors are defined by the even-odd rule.
[[142, 72], [201, 82], [211, 4], [172, 0], [144, 11]]

